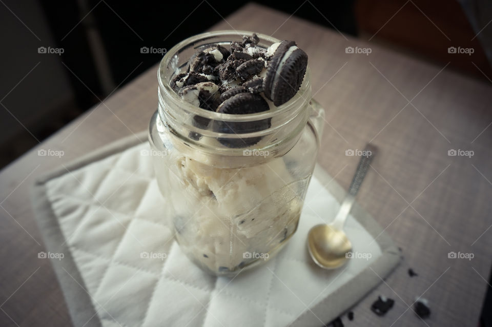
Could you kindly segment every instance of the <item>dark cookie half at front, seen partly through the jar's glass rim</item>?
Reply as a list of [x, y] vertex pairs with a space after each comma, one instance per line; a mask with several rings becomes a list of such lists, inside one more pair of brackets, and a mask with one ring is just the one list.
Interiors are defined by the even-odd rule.
[[[260, 95], [243, 92], [238, 93], [226, 101], [224, 101], [217, 108], [217, 112], [226, 114], [253, 114], [269, 110], [267, 101], [265, 101]], [[220, 121], [215, 120], [213, 125], [213, 131], [218, 133], [227, 134], [243, 134], [262, 131], [272, 126], [271, 118], [262, 119], [258, 121]], [[229, 148], [243, 148], [254, 144], [257, 144], [261, 139], [258, 137], [248, 138], [218, 138], [218, 141]]]

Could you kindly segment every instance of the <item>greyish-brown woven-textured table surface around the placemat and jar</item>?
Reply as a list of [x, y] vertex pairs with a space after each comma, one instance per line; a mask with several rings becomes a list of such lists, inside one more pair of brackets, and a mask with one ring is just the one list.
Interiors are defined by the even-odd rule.
[[[294, 39], [308, 53], [313, 96], [326, 109], [318, 162], [343, 187], [358, 162], [346, 150], [368, 141], [380, 150], [358, 202], [404, 260], [354, 306], [352, 323], [477, 325], [492, 255], [492, 85], [255, 4], [213, 29], [232, 28]], [[346, 53], [348, 46], [372, 52]], [[37, 258], [44, 246], [29, 188], [43, 172], [145, 130], [156, 105], [152, 67], [0, 173], [0, 325], [71, 325], [51, 264]], [[451, 149], [461, 151], [449, 156]], [[370, 311], [379, 294], [395, 299], [384, 317]], [[425, 323], [409, 308], [419, 296], [432, 310]]]

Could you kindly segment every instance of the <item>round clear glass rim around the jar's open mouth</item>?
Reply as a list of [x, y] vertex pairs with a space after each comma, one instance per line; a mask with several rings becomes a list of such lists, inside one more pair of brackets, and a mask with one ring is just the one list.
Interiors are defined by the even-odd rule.
[[[222, 121], [234, 121], [234, 122], [241, 122], [241, 121], [256, 121], [260, 119], [268, 119], [271, 117], [274, 117], [278, 114], [282, 114], [282, 112], [291, 110], [297, 106], [299, 106], [299, 101], [309, 101], [309, 98], [303, 97], [303, 94], [305, 93], [305, 90], [308, 90], [310, 87], [310, 69], [309, 65], [306, 68], [306, 72], [304, 74], [304, 78], [301, 84], [301, 87], [299, 88], [298, 92], [291, 98], [289, 101], [286, 103], [276, 107], [275, 110], [269, 110], [269, 111], [263, 111], [259, 113], [253, 113], [253, 114], [228, 114], [228, 113], [219, 113], [215, 111], [209, 111], [209, 110], [204, 110], [200, 107], [194, 106], [184, 99], [182, 99], [170, 86], [169, 81], [163, 81], [162, 80], [162, 69], [168, 69], [169, 64], [173, 60], [173, 58], [176, 56], [176, 53], [179, 52], [182, 48], [185, 48], [187, 45], [194, 44], [200, 40], [205, 40], [207, 38], [213, 38], [216, 36], [227, 36], [230, 35], [231, 37], [233, 36], [240, 36], [242, 35], [251, 35], [254, 32], [251, 31], [243, 31], [243, 30], [219, 30], [219, 31], [213, 31], [213, 32], [206, 32], [206, 33], [200, 33], [193, 35], [191, 37], [188, 37], [178, 44], [176, 44], [174, 47], [172, 47], [169, 51], [166, 52], [166, 54], [163, 56], [159, 63], [159, 67], [157, 69], [157, 81], [159, 84], [159, 88], [163, 90], [164, 96], [170, 97], [173, 99], [173, 101], [183, 108], [185, 108], [188, 112], [194, 115], [198, 115], [201, 117], [209, 118], [209, 119], [214, 119], [214, 120], [222, 120]], [[261, 39], [267, 40], [269, 42], [277, 43], [280, 42], [281, 40], [265, 35], [262, 33], [256, 33]], [[231, 40], [233, 40], [231, 38]], [[195, 48], [196, 49], [196, 48]], [[179, 68], [176, 68], [178, 70]], [[176, 73], [176, 72], [175, 72]], [[306, 78], [307, 77], [307, 78]]]

